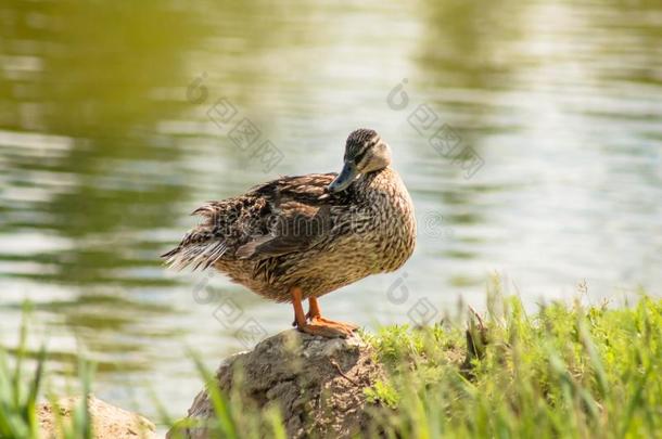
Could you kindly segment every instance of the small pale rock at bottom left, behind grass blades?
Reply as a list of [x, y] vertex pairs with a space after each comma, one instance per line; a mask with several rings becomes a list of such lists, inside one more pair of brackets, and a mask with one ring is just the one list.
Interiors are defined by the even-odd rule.
[[[60, 416], [65, 425], [71, 422], [72, 414], [79, 402], [80, 398], [66, 398], [58, 401]], [[118, 409], [94, 397], [88, 398], [88, 408], [96, 439], [152, 439], [156, 437], [154, 424], [136, 413]], [[50, 404], [39, 405], [37, 416], [42, 438], [61, 437], [53, 408]]]

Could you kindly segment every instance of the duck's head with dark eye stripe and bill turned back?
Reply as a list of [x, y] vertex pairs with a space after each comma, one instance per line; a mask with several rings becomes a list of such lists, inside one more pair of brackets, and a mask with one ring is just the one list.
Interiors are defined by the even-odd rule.
[[380, 171], [391, 165], [391, 147], [377, 131], [359, 128], [352, 131], [345, 144], [345, 165], [329, 184], [329, 192], [342, 192], [359, 176]]

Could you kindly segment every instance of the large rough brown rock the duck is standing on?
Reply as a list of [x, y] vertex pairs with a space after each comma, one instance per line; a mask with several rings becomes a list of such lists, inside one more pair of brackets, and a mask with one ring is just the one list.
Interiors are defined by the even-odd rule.
[[[287, 331], [224, 361], [216, 385], [226, 395], [239, 390], [242, 400], [259, 409], [279, 406], [291, 438], [352, 437], [368, 422], [364, 389], [384, 376], [372, 353], [358, 335], [329, 339]], [[206, 390], [188, 416], [214, 418]], [[191, 439], [209, 437], [204, 428], [179, 432]]]

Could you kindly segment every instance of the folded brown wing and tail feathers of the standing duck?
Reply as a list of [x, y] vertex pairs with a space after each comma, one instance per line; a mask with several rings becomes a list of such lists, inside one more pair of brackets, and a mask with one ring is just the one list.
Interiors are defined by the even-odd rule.
[[334, 225], [336, 207], [349, 192], [330, 194], [335, 173], [281, 177], [244, 195], [208, 202], [192, 215], [201, 224], [162, 257], [177, 269], [206, 269], [220, 258], [265, 259], [304, 251]]

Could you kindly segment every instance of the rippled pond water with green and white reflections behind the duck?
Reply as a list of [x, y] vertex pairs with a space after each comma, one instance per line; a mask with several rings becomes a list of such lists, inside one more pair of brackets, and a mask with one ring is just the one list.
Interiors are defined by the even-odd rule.
[[[529, 302], [584, 279], [594, 298], [662, 294], [659, 2], [369, 3], [0, 5], [2, 339], [29, 298], [54, 370], [78, 343], [102, 397], [150, 412], [145, 383], [165, 383], [181, 412], [198, 389], [186, 346], [212, 365], [242, 348], [243, 322], [273, 333], [292, 311], [220, 276], [202, 288], [157, 255], [206, 199], [336, 170], [358, 126], [392, 144], [421, 235], [402, 272], [327, 296], [334, 318], [480, 304], [492, 272]], [[393, 109], [398, 83], [408, 106]], [[275, 169], [208, 119], [220, 98], [282, 151]], [[419, 104], [480, 154], [479, 172], [409, 125]], [[237, 322], [221, 319], [228, 298]]]

